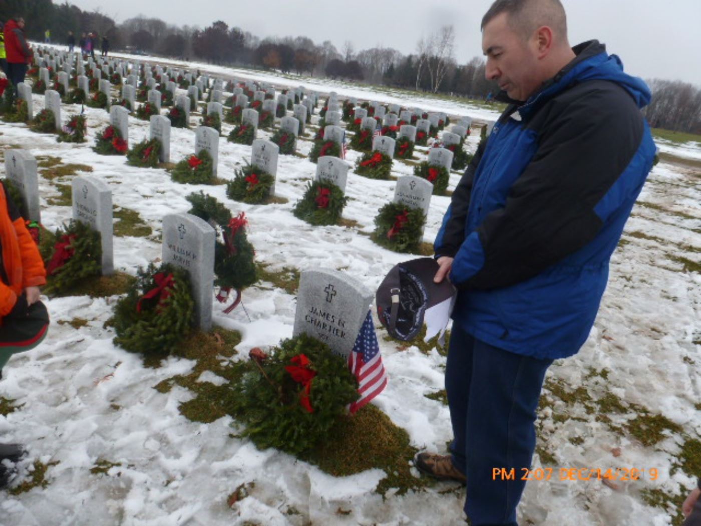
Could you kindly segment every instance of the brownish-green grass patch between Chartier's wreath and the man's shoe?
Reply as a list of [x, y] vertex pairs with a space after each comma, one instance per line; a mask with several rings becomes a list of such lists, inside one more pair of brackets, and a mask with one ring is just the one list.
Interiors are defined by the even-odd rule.
[[389, 417], [368, 404], [353, 417], [339, 422], [327, 443], [313, 450], [304, 460], [334, 477], [380, 468], [386, 474], [376, 491], [384, 494], [397, 488], [397, 494], [428, 485], [426, 478], [416, 478], [409, 471], [416, 449], [409, 445], [409, 435], [395, 426]]

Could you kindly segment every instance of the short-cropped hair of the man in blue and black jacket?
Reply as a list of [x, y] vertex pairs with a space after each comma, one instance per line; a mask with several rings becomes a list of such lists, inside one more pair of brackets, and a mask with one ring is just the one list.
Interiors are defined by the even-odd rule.
[[496, 0], [482, 17], [480, 29], [501, 13], [507, 13], [509, 25], [524, 39], [547, 25], [560, 39], [567, 40], [567, 17], [560, 0]]

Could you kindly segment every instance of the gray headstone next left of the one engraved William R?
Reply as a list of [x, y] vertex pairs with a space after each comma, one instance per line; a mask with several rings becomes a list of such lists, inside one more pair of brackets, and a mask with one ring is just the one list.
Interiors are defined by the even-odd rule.
[[71, 182], [73, 219], [100, 232], [102, 243], [102, 275], [114, 274], [112, 252], [112, 192], [95, 177], [74, 177]]

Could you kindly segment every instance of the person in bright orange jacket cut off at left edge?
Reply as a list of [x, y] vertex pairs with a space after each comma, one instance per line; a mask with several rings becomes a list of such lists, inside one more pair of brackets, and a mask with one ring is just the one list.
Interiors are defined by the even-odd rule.
[[[46, 337], [48, 311], [39, 301], [39, 286], [46, 283], [39, 248], [25, 220], [0, 182], [0, 379], [2, 368], [14, 353], [34, 349]], [[17, 462], [20, 445], [0, 444], [0, 488], [13, 472], [4, 460]]]

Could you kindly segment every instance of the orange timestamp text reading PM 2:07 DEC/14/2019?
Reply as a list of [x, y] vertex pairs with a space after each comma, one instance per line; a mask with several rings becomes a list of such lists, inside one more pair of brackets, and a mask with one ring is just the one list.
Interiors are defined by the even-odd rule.
[[492, 480], [657, 480], [657, 468], [492, 468]]

